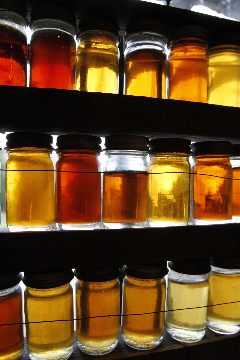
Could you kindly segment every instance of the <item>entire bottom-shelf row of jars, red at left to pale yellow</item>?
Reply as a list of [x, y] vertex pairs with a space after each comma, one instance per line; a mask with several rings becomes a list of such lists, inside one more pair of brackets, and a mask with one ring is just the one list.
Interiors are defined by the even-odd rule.
[[[211, 271], [211, 266], [212, 271]], [[201, 340], [206, 325], [218, 334], [240, 331], [240, 256], [125, 265], [122, 339], [130, 347], [157, 347], [167, 332], [186, 343]], [[211, 272], [210, 272], [211, 271]], [[76, 340], [80, 350], [103, 355], [119, 339], [119, 268], [25, 272], [23, 283], [27, 350], [30, 359], [68, 359]], [[22, 274], [0, 274], [0, 359], [16, 360], [24, 348]], [[165, 307], [166, 301], [166, 307]], [[166, 310], [165, 310], [166, 309]], [[6, 357], [8, 356], [8, 357]]]

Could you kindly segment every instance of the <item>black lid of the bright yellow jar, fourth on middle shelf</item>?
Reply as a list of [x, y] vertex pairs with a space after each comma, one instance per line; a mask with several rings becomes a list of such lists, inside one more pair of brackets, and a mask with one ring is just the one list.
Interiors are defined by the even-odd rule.
[[191, 154], [191, 141], [187, 139], [154, 139], [150, 140], [150, 153], [184, 153]]

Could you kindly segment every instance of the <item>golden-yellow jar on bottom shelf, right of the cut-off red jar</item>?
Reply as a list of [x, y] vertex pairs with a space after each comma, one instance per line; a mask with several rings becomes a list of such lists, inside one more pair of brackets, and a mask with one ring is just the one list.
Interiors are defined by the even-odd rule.
[[24, 272], [23, 283], [27, 287], [24, 310], [30, 359], [66, 360], [71, 356], [74, 346], [72, 279], [72, 270]]

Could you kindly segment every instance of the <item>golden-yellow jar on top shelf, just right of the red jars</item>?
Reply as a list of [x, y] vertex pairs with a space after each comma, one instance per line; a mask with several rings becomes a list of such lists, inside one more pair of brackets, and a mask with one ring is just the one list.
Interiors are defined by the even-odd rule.
[[118, 94], [119, 29], [103, 20], [78, 25], [76, 90]]

